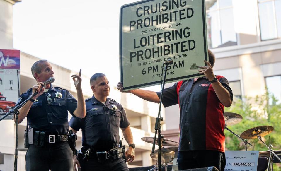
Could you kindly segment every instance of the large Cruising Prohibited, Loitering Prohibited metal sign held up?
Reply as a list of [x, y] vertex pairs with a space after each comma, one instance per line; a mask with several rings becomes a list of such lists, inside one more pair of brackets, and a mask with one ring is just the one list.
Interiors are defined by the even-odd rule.
[[120, 8], [120, 79], [124, 90], [200, 77], [208, 60], [205, 0], [145, 0]]

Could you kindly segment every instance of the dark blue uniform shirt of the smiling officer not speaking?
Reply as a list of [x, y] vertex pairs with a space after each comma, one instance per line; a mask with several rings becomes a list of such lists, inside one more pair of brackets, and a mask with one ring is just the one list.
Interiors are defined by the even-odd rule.
[[85, 102], [86, 117], [71, 117], [69, 121], [71, 128], [82, 130], [82, 146], [95, 151], [109, 151], [117, 147], [120, 139], [119, 127], [126, 128], [130, 125], [122, 105], [110, 98], [107, 98], [104, 105], [94, 96]]

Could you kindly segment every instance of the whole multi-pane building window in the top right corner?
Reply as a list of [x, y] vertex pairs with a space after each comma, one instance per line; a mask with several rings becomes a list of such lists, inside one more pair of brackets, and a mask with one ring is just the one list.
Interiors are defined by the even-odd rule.
[[258, 0], [261, 40], [281, 38], [281, 0]]

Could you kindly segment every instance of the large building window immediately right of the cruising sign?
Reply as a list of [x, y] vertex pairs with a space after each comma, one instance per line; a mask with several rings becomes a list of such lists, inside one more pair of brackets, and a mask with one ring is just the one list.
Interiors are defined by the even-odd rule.
[[206, 0], [208, 47], [237, 45], [232, 0]]

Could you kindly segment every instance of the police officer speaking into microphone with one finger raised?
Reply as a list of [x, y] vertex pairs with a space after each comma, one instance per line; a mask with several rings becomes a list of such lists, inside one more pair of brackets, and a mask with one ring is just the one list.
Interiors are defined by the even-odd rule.
[[[42, 81], [46, 80], [47, 77], [52, 77], [54, 73], [52, 66], [46, 60], [35, 62], [32, 72], [38, 84], [21, 94], [17, 102], [17, 105], [21, 104], [36, 90], [40, 92], [19, 110], [19, 123], [27, 117], [29, 128], [33, 128], [33, 144], [29, 145], [25, 155], [26, 170], [72, 171], [72, 150], [67, 142], [68, 111], [74, 117], [80, 117], [80, 112], [77, 113], [76, 109], [78, 109], [77, 105], [84, 107], [83, 95], [82, 103], [80, 100], [80, 104], [77, 104], [73, 95], [60, 87], [48, 85], [46, 89], [42, 88], [42, 91], [40, 91]], [[81, 92], [78, 89], [77, 94], [79, 96]], [[85, 108], [81, 112], [85, 114]], [[29, 132], [29, 134], [32, 134], [32, 132]]]

